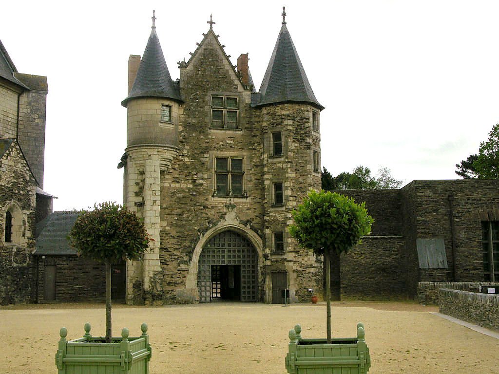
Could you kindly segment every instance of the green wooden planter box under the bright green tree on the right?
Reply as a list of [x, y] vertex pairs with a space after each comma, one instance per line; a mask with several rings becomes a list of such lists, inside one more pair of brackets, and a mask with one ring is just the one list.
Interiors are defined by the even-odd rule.
[[356, 338], [302, 339], [301, 326], [289, 330], [286, 370], [290, 374], [366, 374], [371, 367], [364, 325], [357, 325]]

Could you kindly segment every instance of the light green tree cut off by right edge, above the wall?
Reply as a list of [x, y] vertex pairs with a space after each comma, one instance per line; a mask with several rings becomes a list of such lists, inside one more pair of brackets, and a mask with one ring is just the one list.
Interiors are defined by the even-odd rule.
[[480, 143], [478, 158], [473, 162], [478, 178], [499, 178], [499, 124], [489, 133], [489, 140]]

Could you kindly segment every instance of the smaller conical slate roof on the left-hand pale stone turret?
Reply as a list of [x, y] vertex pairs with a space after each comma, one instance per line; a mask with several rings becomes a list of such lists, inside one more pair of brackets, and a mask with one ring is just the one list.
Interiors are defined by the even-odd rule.
[[172, 81], [154, 25], [142, 55], [135, 82], [121, 105], [126, 107], [128, 101], [138, 97], [163, 97], [182, 102], [179, 86]]

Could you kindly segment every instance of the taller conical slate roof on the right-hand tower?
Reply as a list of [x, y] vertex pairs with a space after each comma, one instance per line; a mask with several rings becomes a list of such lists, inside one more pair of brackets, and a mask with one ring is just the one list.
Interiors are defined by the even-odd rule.
[[319, 110], [324, 109], [315, 98], [286, 22], [283, 22], [261, 82], [257, 106], [286, 102], [308, 103]]

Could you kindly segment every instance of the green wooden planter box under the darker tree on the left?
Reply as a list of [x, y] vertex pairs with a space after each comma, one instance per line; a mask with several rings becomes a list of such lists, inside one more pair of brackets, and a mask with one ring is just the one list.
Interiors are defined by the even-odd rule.
[[140, 337], [129, 338], [128, 329], [123, 329], [121, 338], [103, 343], [105, 338], [90, 335], [88, 323], [83, 338], [70, 341], [66, 340], [66, 328], [61, 328], [55, 354], [58, 374], [148, 374], [151, 345], [145, 323], [141, 330]]

